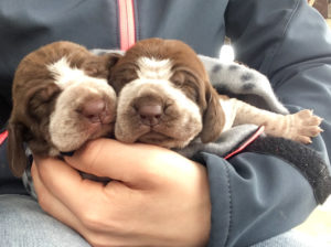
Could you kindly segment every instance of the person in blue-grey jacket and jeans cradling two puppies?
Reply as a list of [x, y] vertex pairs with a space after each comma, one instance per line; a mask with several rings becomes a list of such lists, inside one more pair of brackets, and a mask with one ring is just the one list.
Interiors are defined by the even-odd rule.
[[[266, 74], [290, 111], [312, 108], [323, 118], [324, 131], [311, 147], [330, 164], [330, 31], [303, 0], [31, 0], [1, 2], [0, 9], [3, 130], [14, 68], [41, 45], [70, 40], [88, 49], [127, 50], [159, 36], [217, 56], [226, 34], [237, 58]], [[19, 195], [24, 192], [6, 167], [6, 143], [3, 138], [3, 246], [300, 246], [292, 233], [279, 234], [317, 206], [307, 178], [271, 155], [246, 152], [226, 161], [203, 152], [192, 161], [156, 146], [97, 139], [64, 160], [33, 157], [39, 204], [50, 217]], [[76, 169], [111, 182], [83, 180]]]

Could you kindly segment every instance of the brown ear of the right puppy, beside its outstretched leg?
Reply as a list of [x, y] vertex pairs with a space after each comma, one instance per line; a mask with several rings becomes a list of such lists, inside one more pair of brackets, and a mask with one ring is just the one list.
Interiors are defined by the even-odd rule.
[[200, 138], [203, 143], [217, 140], [224, 128], [224, 110], [220, 104], [218, 94], [210, 88], [206, 92], [207, 106], [203, 115], [203, 129]]

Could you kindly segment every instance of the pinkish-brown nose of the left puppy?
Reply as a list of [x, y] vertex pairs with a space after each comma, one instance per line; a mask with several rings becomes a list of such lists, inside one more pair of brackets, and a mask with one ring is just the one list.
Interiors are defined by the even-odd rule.
[[106, 103], [103, 99], [94, 99], [85, 103], [82, 108], [82, 115], [90, 122], [106, 124], [109, 114], [106, 110]]

